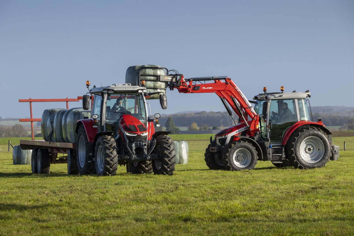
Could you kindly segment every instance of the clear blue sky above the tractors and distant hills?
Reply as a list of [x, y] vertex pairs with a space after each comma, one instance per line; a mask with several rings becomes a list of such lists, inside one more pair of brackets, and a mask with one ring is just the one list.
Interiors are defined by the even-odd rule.
[[[249, 98], [312, 92], [312, 106], [353, 106], [353, 1], [0, 1], [1, 117], [29, 116], [18, 99], [124, 83], [158, 64], [185, 77], [228, 75]], [[167, 92], [169, 108], [223, 111], [215, 94]], [[78, 106], [72, 103], [70, 107]], [[64, 103], [34, 104], [34, 117]]]

